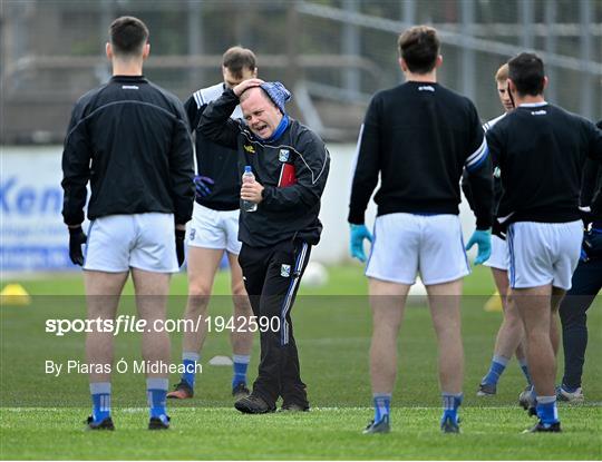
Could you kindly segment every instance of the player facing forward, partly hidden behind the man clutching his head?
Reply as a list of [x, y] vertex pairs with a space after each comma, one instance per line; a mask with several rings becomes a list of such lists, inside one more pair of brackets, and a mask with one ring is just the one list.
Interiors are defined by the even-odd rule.
[[[232, 394], [235, 399], [249, 395], [246, 368], [251, 358], [253, 332], [249, 328], [252, 316], [249, 297], [244, 289], [242, 271], [239, 265], [241, 242], [239, 240], [239, 214], [241, 178], [235, 150], [220, 146], [207, 139], [198, 130], [198, 121], [207, 105], [222, 96], [226, 88], [233, 88], [243, 80], [256, 77], [256, 60], [253, 51], [232, 47], [222, 61], [223, 81], [195, 91], [184, 107], [191, 129], [195, 135], [196, 204], [188, 233], [188, 301], [185, 320], [194, 325], [205, 318], [213, 287], [213, 279], [224, 253], [230, 263], [232, 301], [234, 304], [233, 330], [231, 332], [233, 353]], [[233, 118], [241, 118], [237, 106]], [[198, 324], [198, 331], [186, 331], [182, 341], [182, 363], [185, 367], [182, 380], [167, 397], [188, 399], [194, 394], [195, 370], [200, 352], [207, 334], [207, 323]]]

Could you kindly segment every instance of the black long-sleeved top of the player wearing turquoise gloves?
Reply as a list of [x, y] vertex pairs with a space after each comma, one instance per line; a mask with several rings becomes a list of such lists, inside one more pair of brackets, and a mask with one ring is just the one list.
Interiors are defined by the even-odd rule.
[[377, 215], [454, 214], [466, 167], [477, 228], [493, 222], [493, 175], [473, 102], [434, 82], [408, 81], [372, 98], [360, 132], [348, 222], [363, 224], [375, 195]]

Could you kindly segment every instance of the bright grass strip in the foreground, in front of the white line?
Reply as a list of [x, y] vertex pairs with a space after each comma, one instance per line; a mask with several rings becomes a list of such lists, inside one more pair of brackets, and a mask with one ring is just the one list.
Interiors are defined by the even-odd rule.
[[[441, 434], [438, 409], [395, 409], [387, 435], [362, 435], [370, 410], [242, 415], [227, 409], [174, 409], [167, 432], [148, 432], [146, 410], [118, 410], [115, 432], [85, 432], [87, 410], [2, 410], [3, 458], [201, 460], [574, 460], [600, 459], [600, 409], [563, 410], [563, 434], [520, 434], [515, 407], [468, 407], [463, 432]], [[18, 417], [17, 417], [17, 415]], [[492, 417], [494, 416], [494, 417]], [[570, 424], [569, 424], [570, 423]], [[523, 425], [524, 426], [524, 425]], [[594, 436], [598, 435], [598, 436]], [[598, 442], [595, 441], [598, 439]]]

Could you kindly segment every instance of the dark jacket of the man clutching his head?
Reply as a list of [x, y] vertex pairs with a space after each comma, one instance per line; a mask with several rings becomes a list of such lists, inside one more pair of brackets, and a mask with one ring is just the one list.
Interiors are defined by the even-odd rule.
[[[310, 245], [320, 240], [320, 197], [328, 178], [330, 155], [323, 141], [297, 120], [290, 120], [272, 144], [258, 139], [242, 120], [230, 115], [239, 104], [227, 89], [201, 116], [198, 130], [208, 139], [239, 153], [239, 175], [250, 165], [263, 185], [258, 210], [241, 213], [239, 239], [253, 247], [269, 247], [300, 239]], [[284, 164], [294, 166], [297, 184], [279, 187]]]

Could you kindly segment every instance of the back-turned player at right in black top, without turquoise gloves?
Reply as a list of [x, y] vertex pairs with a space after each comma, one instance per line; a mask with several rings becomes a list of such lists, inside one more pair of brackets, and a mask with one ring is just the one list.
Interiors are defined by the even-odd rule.
[[487, 131], [504, 187], [497, 219], [507, 226], [509, 285], [525, 326], [535, 385], [536, 403], [525, 406], [540, 419], [531, 431], [557, 432], [555, 313], [571, 288], [581, 252], [583, 166], [588, 156], [602, 159], [602, 132], [544, 100], [547, 78], [537, 56], [521, 53], [508, 66], [516, 109]]

